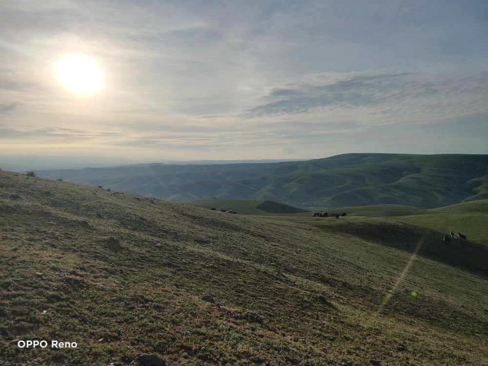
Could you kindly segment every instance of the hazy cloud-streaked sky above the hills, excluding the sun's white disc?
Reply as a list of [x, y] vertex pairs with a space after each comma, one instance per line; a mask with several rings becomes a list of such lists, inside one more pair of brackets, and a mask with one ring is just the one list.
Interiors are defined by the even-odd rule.
[[1, 162], [484, 154], [487, 122], [488, 1], [0, 2]]

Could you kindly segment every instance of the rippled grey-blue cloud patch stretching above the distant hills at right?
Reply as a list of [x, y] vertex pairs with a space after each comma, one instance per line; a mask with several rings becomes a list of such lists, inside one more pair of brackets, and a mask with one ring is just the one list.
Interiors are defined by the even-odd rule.
[[358, 123], [433, 122], [488, 112], [488, 72], [443, 77], [412, 73], [319, 74], [272, 88], [243, 119], [321, 113]]

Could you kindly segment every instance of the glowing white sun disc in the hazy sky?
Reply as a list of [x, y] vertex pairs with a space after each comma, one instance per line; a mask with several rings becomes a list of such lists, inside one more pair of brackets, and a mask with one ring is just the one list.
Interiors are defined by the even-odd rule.
[[102, 83], [102, 72], [89, 57], [70, 55], [58, 62], [58, 78], [69, 90], [80, 95], [95, 93]]

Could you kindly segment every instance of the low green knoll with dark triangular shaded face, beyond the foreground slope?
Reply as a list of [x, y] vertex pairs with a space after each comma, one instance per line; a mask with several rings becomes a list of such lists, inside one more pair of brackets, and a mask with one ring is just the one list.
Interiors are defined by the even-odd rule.
[[307, 210], [293, 207], [284, 203], [278, 203], [269, 200], [219, 200], [219, 199], [201, 199], [186, 201], [185, 204], [203, 208], [224, 209], [226, 211], [236, 211], [243, 215], [267, 215], [267, 214], [296, 214], [305, 213]]

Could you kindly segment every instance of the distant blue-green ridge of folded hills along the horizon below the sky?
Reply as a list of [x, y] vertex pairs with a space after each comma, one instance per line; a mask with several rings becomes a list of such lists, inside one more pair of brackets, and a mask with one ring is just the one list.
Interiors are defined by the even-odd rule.
[[154, 163], [37, 173], [177, 202], [216, 197], [331, 208], [440, 207], [488, 198], [488, 155], [364, 153], [278, 163]]

